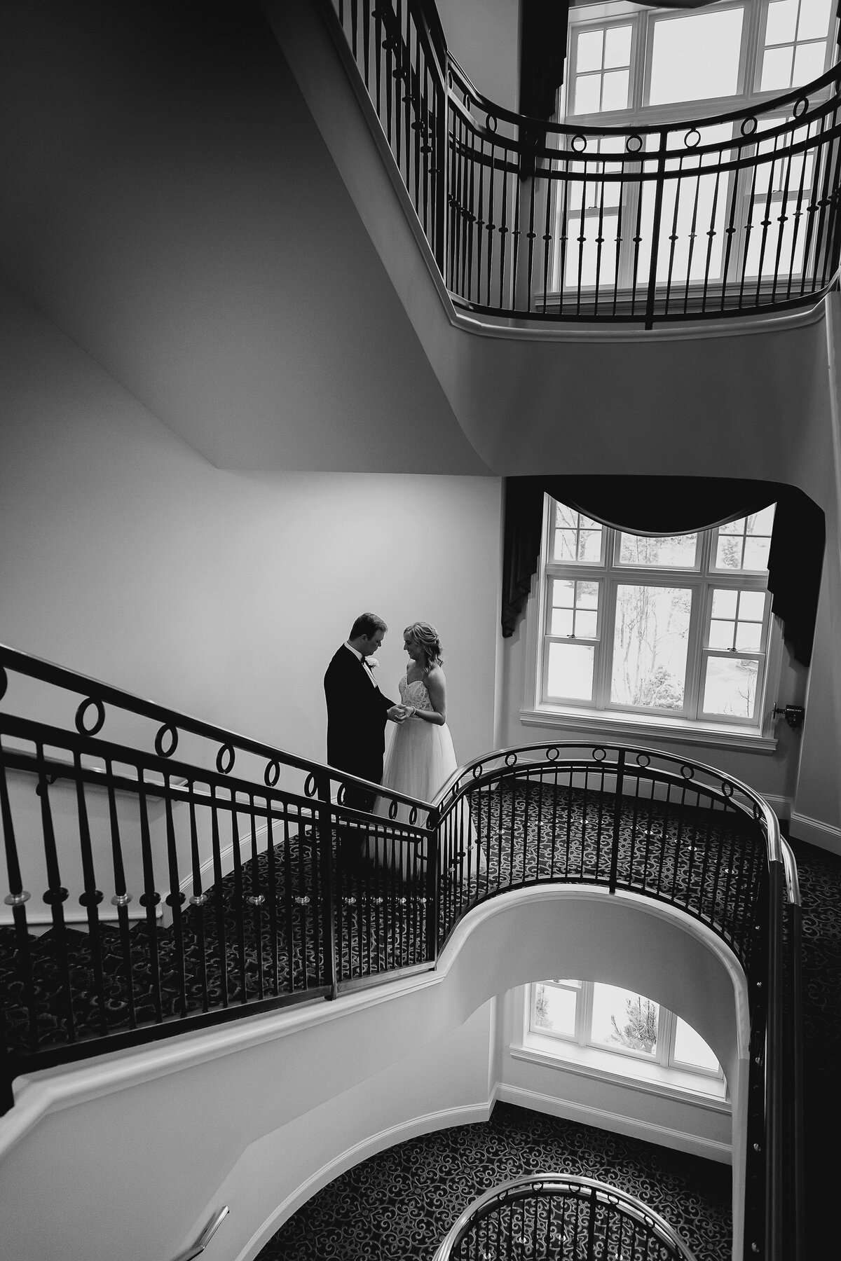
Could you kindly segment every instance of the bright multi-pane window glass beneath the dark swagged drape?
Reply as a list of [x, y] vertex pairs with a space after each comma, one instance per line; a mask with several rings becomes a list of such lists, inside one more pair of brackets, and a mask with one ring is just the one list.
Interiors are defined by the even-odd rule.
[[759, 726], [773, 518], [647, 537], [547, 497], [542, 704]]

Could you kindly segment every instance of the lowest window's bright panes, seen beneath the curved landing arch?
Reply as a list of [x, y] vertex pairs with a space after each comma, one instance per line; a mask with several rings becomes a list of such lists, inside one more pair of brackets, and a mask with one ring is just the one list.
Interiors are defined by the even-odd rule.
[[722, 1076], [715, 1052], [700, 1034], [642, 994], [599, 981], [536, 981], [528, 986], [528, 1004], [531, 1034], [663, 1068]]

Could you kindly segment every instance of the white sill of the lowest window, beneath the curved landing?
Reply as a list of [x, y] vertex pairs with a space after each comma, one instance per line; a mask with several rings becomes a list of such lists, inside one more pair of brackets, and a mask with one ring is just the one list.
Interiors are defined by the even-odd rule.
[[663, 1068], [644, 1061], [625, 1058], [623, 1072], [618, 1071], [617, 1057], [595, 1047], [579, 1047], [540, 1034], [530, 1034], [522, 1044], [511, 1047], [513, 1059], [525, 1059], [545, 1068], [556, 1068], [576, 1077], [598, 1078], [643, 1095], [657, 1095], [681, 1100], [711, 1112], [730, 1113], [726, 1082], [721, 1077], [702, 1077], [680, 1068]]

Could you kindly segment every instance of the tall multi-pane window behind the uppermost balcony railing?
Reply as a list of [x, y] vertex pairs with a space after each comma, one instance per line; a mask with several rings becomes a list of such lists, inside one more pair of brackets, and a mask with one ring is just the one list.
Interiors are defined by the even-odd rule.
[[[835, 25], [831, 0], [740, 0], [704, 11], [643, 8], [632, 14], [620, 3], [576, 5], [570, 10], [560, 117], [583, 127], [633, 131], [759, 105], [823, 73]], [[586, 150], [586, 161], [567, 155], [557, 168], [567, 178], [554, 190], [551, 290], [615, 290], [620, 298], [648, 274], [654, 245], [654, 280], [670, 290], [715, 289], [725, 272], [741, 274], [759, 288], [778, 284], [780, 276], [793, 282], [807, 262], [815, 155], [788, 150], [807, 139], [809, 127], [816, 135], [820, 124], [792, 135], [792, 121], [763, 116], [754, 122], [751, 144], [733, 122], [697, 124], [687, 134], [691, 142], [680, 129], [671, 131], [667, 144], [676, 154], [664, 163], [658, 211], [659, 182], [637, 179], [638, 170], [656, 169], [651, 154], [659, 142], [657, 132], [646, 134], [638, 169], [622, 135], [589, 136], [585, 149], [576, 141], [575, 151]], [[729, 140], [731, 150], [695, 153]], [[786, 153], [774, 161], [778, 146]], [[624, 166], [612, 161], [610, 153], [623, 158]], [[736, 165], [765, 154], [772, 160]], [[677, 171], [680, 179], [673, 178]]]

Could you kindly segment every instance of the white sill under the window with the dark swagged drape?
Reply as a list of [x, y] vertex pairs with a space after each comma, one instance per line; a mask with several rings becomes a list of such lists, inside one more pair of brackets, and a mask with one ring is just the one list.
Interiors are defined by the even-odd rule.
[[647, 714], [598, 714], [593, 710], [540, 706], [522, 709], [519, 720], [525, 726], [556, 726], [566, 730], [588, 731], [612, 740], [671, 740], [677, 744], [701, 744], [719, 749], [741, 749], [749, 753], [774, 753], [775, 735], [763, 735], [757, 728], [722, 728], [712, 723], [691, 723], [686, 719], [649, 718]]

